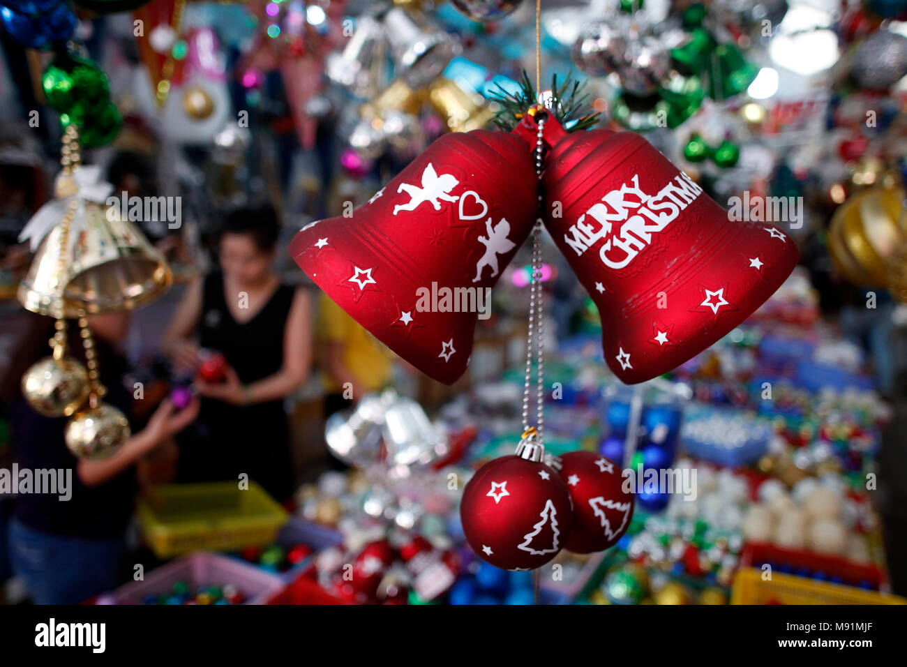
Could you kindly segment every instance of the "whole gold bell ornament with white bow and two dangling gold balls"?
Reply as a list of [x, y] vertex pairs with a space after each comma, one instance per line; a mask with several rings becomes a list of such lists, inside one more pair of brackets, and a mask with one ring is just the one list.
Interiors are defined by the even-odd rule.
[[[29, 221], [23, 232], [23, 239], [41, 242], [35, 255], [28, 278], [19, 290], [19, 299], [24, 307], [56, 318], [54, 348], [52, 357], [38, 361], [29, 368], [22, 378], [22, 391], [28, 403], [35, 410], [48, 417], [70, 417], [66, 425], [65, 442], [73, 455], [82, 458], [110, 456], [114, 450], [131, 435], [129, 421], [116, 407], [101, 402], [106, 393], [100, 382], [97, 355], [91, 329], [88, 328], [87, 311], [105, 312], [116, 308], [132, 308], [138, 297], [147, 298], [155, 293], [149, 290], [136, 291], [136, 285], [148, 285], [157, 268], [162, 267], [161, 285], [169, 285], [170, 269], [166, 262], [154, 257], [147, 240], [138, 230], [122, 226], [120, 232], [106, 235], [93, 228], [103, 223], [98, 216], [93, 218], [87, 211], [96, 207], [102, 211], [98, 200], [110, 193], [110, 186], [97, 182], [96, 172], [81, 167], [78, 132], [73, 125], [66, 128], [60, 163], [62, 172], [55, 183], [56, 199], [44, 207]], [[86, 171], [87, 170], [87, 171]], [[36, 220], [37, 219], [37, 220]], [[107, 220], [102, 212], [100, 219]], [[133, 228], [134, 230], [134, 228]], [[73, 242], [73, 235], [82, 238]], [[44, 239], [42, 241], [42, 239]], [[97, 242], [99, 247], [88, 251], [87, 244]], [[125, 245], [125, 242], [130, 245]], [[105, 246], [120, 243], [111, 252]], [[146, 265], [153, 264], [151, 278], [141, 279], [141, 260], [129, 249], [141, 250], [147, 246], [151, 253]], [[132, 280], [131, 280], [132, 279]], [[73, 280], [79, 280], [73, 286]], [[113, 280], [119, 280], [126, 291], [117, 298], [109, 289]], [[144, 299], [142, 299], [144, 300]], [[79, 320], [80, 336], [85, 353], [83, 366], [66, 355], [66, 320], [73, 315]]]

